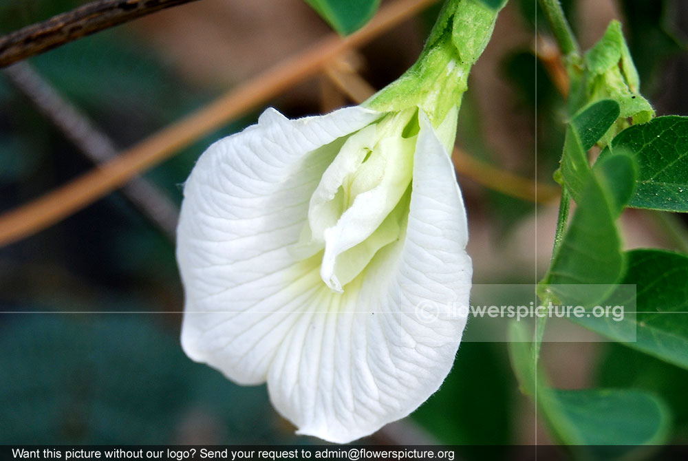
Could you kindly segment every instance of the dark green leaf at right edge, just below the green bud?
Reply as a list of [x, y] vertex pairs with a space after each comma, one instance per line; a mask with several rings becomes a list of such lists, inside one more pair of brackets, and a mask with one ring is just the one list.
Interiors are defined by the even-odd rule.
[[688, 212], [688, 117], [658, 117], [625, 129], [603, 155], [619, 151], [638, 163], [630, 206]]

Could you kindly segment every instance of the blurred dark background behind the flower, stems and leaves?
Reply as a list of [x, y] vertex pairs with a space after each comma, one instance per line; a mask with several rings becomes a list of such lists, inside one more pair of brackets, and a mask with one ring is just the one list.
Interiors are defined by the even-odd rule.
[[[0, 33], [78, 6], [76, 0], [0, 0]], [[684, 1], [567, 1], [581, 42], [608, 19], [625, 24], [643, 92], [659, 114], [688, 115]], [[384, 2], [383, 2], [384, 5]], [[437, 13], [431, 8], [361, 50], [375, 87], [411, 63]], [[552, 183], [563, 142], [563, 100], [533, 52], [533, 0], [512, 0], [471, 76], [459, 142], [471, 155]], [[279, 24], [278, 24], [279, 21]], [[286, 31], [286, 32], [285, 32]], [[214, 98], [327, 33], [299, 0], [202, 0], [80, 39], [30, 64], [119, 148]], [[270, 101], [287, 116], [316, 114], [321, 78]], [[222, 127], [145, 173], [175, 204], [193, 164]], [[537, 127], [537, 129], [535, 129]], [[487, 136], [486, 133], [495, 133]], [[537, 143], [537, 155], [535, 146]], [[89, 171], [64, 134], [0, 76], [0, 212]], [[533, 283], [547, 267], [556, 208], [462, 179], [475, 283]], [[552, 212], [552, 209], [554, 210]], [[669, 246], [632, 216], [635, 246]], [[504, 264], [510, 261], [510, 264]], [[182, 288], [174, 246], [121, 193], [0, 248], [0, 443], [313, 443], [293, 435], [266, 388], [239, 387], [183, 354]], [[471, 328], [469, 325], [468, 328]], [[688, 442], [688, 372], [610, 343], [544, 346], [560, 387], [630, 387], [664, 398], [671, 439]], [[367, 442], [522, 444], [546, 441], [521, 396], [504, 343], [463, 343], [440, 391], [409, 420]], [[472, 458], [467, 448], [465, 455]], [[477, 455], [476, 455], [477, 456]]]

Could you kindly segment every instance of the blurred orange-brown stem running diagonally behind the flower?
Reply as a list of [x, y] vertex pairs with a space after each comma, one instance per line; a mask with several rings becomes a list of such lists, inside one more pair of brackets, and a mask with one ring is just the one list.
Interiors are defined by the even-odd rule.
[[397, 0], [380, 8], [364, 28], [342, 39], [330, 34], [266, 72], [220, 96], [92, 171], [28, 204], [0, 215], [0, 246], [28, 237], [117, 189], [206, 133], [320, 72], [332, 59], [375, 39], [437, 0]]

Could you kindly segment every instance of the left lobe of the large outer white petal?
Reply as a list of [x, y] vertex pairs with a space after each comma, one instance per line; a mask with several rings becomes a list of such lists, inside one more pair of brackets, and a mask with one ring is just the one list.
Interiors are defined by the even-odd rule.
[[177, 246], [182, 347], [191, 358], [239, 383], [264, 382], [288, 324], [279, 314], [237, 312], [263, 312], [276, 295], [292, 301], [282, 310], [294, 310], [308, 297], [307, 279], [294, 283], [292, 272], [306, 273], [310, 263], [294, 264], [286, 248], [298, 241], [310, 195], [336, 155], [323, 146], [379, 116], [351, 107], [288, 120], [268, 109], [258, 125], [201, 156], [184, 186]]

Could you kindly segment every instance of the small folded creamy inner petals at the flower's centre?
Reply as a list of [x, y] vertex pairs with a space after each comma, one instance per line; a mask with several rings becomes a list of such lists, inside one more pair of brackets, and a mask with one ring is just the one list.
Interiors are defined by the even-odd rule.
[[[382, 246], [378, 244], [385, 240], [384, 237], [387, 237], [384, 244], [391, 242], [390, 237], [398, 237], [398, 232], [394, 235], [385, 232], [387, 235], [382, 236], [383, 239], [371, 238], [374, 233], [380, 234], [380, 226], [398, 206], [411, 182], [413, 151], [417, 136], [407, 138], [402, 136], [402, 133], [413, 120], [418, 120], [417, 110], [408, 109], [385, 116], [373, 125], [377, 127], [376, 130], [369, 131], [370, 127], [367, 127], [352, 136], [325, 171], [323, 180], [314, 194], [314, 199], [317, 197], [319, 200], [311, 200], [310, 228], [313, 230], [313, 236], [320, 239], [325, 248], [321, 277], [332, 290], [342, 291], [342, 286], [350, 281], [339, 279], [342, 272], [347, 272], [347, 269], [351, 272], [361, 261], [367, 264]], [[365, 138], [362, 136], [364, 133], [367, 134]], [[363, 138], [362, 142], [353, 142], [357, 138]], [[344, 169], [343, 165], [349, 165], [349, 168]], [[326, 189], [327, 193], [319, 193], [321, 189]], [[335, 191], [338, 193], [335, 194]], [[338, 213], [334, 214], [338, 217], [336, 222], [326, 227], [318, 226], [314, 219], [314, 215], [325, 214], [314, 207], [314, 202], [319, 203], [321, 197], [325, 200], [332, 200], [333, 197], [341, 199], [330, 202], [337, 202], [340, 208]], [[367, 240], [376, 240], [378, 244], [365, 244]], [[352, 261], [351, 252], [346, 255], [343, 253], [354, 247], [357, 247], [354, 253], [358, 253], [358, 257]], [[365, 254], [364, 250], [372, 251]], [[359, 268], [358, 272], [361, 269], [363, 267]]]

